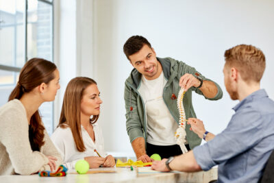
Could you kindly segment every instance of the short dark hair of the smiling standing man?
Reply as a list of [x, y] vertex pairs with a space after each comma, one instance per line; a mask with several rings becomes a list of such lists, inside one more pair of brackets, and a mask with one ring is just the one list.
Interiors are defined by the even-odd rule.
[[129, 60], [129, 56], [132, 56], [134, 53], [137, 53], [142, 49], [144, 45], [147, 45], [151, 48], [149, 41], [143, 36], [132, 36], [130, 37], [124, 45], [124, 53]]

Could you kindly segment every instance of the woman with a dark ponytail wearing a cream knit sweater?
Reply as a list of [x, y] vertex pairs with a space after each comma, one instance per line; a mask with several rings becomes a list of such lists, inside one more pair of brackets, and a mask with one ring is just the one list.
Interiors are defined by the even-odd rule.
[[41, 58], [25, 63], [8, 103], [0, 108], [0, 175], [54, 171], [62, 163], [38, 112], [59, 88], [55, 64]]

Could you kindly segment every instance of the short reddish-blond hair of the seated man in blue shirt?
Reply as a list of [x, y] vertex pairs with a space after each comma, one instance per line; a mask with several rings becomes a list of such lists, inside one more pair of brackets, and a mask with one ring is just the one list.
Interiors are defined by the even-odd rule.
[[237, 45], [225, 51], [225, 61], [240, 72], [245, 82], [260, 82], [266, 66], [264, 53], [252, 45]]

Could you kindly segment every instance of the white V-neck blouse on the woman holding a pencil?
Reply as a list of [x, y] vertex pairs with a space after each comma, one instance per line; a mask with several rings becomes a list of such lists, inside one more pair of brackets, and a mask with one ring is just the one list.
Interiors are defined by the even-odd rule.
[[95, 149], [98, 151], [100, 156], [107, 156], [104, 149], [101, 127], [99, 127], [97, 123], [92, 126], [93, 131], [95, 132], [95, 143], [92, 141], [92, 138], [90, 138], [88, 132], [86, 132], [84, 127], [81, 125], [82, 138], [86, 147], [86, 151], [84, 152], [79, 152], [77, 150], [70, 127], [58, 127], [51, 135], [51, 141], [53, 141], [54, 145], [60, 151], [60, 154], [64, 160], [64, 165], [68, 169], [75, 169], [77, 160], [84, 160], [87, 156], [98, 156], [94, 151]]

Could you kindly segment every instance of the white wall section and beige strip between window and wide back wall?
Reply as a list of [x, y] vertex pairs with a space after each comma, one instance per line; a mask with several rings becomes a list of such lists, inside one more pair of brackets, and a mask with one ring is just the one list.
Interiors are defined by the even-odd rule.
[[54, 1], [54, 62], [61, 86], [54, 102], [55, 126], [69, 81], [77, 76], [93, 77], [92, 4], [90, 0]]

